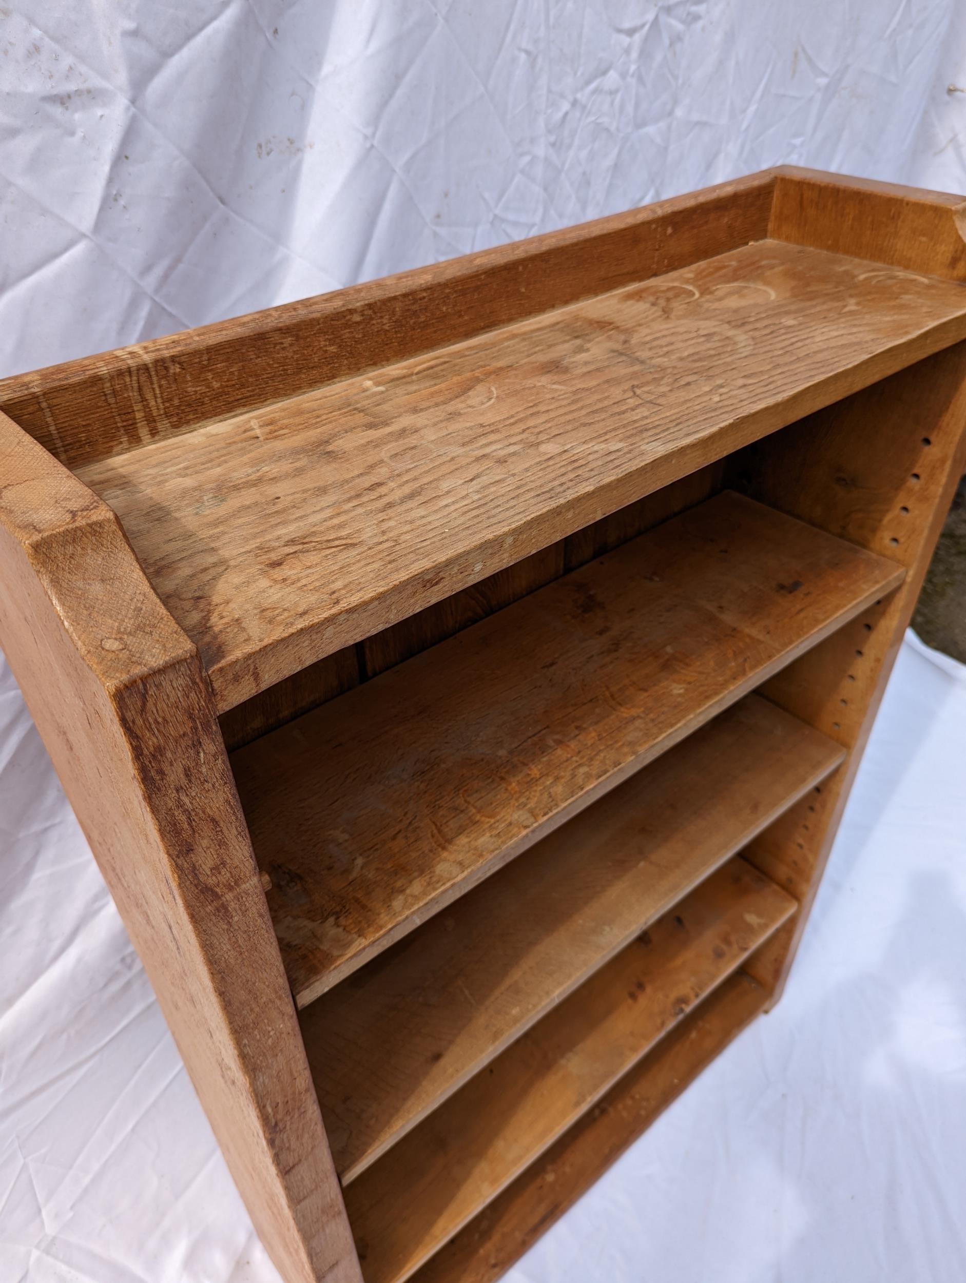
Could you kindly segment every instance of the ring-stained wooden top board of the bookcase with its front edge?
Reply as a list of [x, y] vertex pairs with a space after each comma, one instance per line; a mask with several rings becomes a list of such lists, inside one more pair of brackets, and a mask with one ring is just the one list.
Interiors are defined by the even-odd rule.
[[962, 285], [763, 240], [77, 472], [223, 711], [962, 337]]

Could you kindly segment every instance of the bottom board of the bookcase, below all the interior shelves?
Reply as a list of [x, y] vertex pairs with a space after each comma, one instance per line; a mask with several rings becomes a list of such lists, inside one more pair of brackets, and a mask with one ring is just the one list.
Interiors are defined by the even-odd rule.
[[536, 1162], [452, 1238], [416, 1283], [494, 1283], [762, 1010], [738, 971], [666, 1034]]

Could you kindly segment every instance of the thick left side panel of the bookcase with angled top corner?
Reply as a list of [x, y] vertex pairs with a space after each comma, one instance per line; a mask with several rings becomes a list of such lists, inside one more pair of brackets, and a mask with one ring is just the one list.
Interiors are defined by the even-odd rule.
[[0, 643], [286, 1280], [358, 1259], [210, 685], [114, 513], [0, 414]]

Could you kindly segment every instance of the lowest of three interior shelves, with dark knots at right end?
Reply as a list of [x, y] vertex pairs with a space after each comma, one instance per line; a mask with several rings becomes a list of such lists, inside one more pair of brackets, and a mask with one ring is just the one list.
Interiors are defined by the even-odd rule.
[[795, 910], [730, 861], [345, 1192], [366, 1283], [402, 1283]]

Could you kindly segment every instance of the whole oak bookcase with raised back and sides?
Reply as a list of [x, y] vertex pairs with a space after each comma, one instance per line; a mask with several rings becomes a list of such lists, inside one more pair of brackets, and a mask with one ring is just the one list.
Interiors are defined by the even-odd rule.
[[287, 1283], [495, 1279], [779, 997], [965, 219], [774, 169], [0, 382], [0, 643]]

